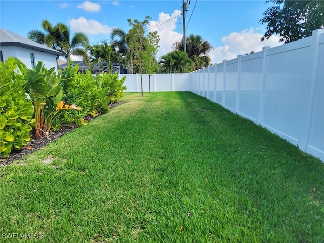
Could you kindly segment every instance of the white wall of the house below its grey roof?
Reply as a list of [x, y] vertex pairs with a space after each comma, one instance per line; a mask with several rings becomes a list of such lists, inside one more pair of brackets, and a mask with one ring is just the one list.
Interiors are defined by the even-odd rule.
[[29, 69], [31, 68], [30, 53], [33, 53], [35, 58], [35, 65], [37, 65], [38, 61], [42, 61], [45, 68], [50, 69], [52, 67], [55, 67], [55, 71], [57, 73], [56, 55], [54, 54], [35, 51], [17, 46], [1, 46], [0, 50], [3, 52], [4, 61], [8, 57], [16, 57]]

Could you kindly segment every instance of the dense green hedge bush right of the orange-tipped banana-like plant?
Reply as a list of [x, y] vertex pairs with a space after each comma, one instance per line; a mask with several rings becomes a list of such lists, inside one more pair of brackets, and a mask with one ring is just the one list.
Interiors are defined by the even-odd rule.
[[64, 69], [61, 72], [64, 101], [77, 104], [82, 111], [63, 111], [62, 123], [76, 123], [81, 125], [80, 118], [87, 115], [96, 116], [109, 111], [109, 104], [119, 101], [123, 97], [125, 77], [118, 80], [118, 74], [97, 74], [90, 71], [86, 74], [78, 73], [78, 65]]

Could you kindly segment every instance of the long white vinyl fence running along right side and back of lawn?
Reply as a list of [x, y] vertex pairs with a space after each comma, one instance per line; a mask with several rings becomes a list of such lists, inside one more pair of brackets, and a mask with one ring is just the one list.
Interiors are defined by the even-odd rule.
[[[120, 76], [127, 76], [126, 91], [141, 91], [138, 74]], [[323, 29], [190, 74], [154, 74], [151, 91], [192, 91], [324, 161]]]

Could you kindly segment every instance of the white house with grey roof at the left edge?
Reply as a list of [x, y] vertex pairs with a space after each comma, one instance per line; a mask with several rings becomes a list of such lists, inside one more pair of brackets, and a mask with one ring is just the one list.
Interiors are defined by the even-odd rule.
[[64, 56], [64, 54], [4, 28], [0, 28], [0, 60], [2, 62], [8, 57], [16, 57], [27, 68], [34, 68], [38, 61], [41, 61], [45, 68], [55, 67], [57, 72], [56, 59], [59, 56]]

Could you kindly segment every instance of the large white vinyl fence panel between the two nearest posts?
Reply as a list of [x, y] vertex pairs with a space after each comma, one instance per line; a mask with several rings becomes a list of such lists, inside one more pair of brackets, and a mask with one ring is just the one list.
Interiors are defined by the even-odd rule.
[[[306, 127], [312, 60], [310, 39], [268, 49], [261, 124], [299, 145]], [[305, 43], [305, 41], [308, 41]]]

